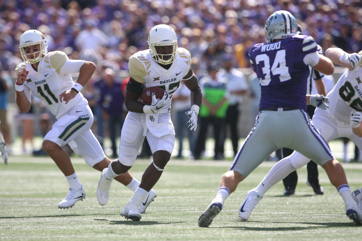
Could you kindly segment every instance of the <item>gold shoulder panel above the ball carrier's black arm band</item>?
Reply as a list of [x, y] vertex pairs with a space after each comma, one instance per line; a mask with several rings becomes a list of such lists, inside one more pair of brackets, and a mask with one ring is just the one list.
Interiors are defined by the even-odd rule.
[[130, 76], [137, 82], [144, 83], [144, 77], [149, 74], [146, 73], [150, 68], [151, 62], [144, 56], [132, 56], [128, 63], [128, 70]]

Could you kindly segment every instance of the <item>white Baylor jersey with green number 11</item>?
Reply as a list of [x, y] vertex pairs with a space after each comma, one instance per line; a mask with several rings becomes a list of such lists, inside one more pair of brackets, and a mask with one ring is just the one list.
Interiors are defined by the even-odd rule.
[[59, 119], [78, 105], [88, 104], [87, 99], [79, 92], [68, 104], [59, 100], [59, 95], [70, 90], [74, 81], [70, 74], [60, 75], [60, 69], [68, 60], [66, 53], [61, 51], [49, 52], [39, 62], [38, 71], [34, 70], [31, 64], [24, 62], [16, 66], [15, 72], [25, 68], [29, 71], [26, 81], [24, 82], [24, 92], [29, 102], [31, 102], [31, 93], [46, 104], [51, 113]]

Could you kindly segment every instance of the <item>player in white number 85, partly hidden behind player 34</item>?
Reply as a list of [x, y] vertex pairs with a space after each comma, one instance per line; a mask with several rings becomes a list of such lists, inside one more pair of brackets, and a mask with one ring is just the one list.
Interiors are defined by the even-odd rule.
[[[333, 90], [328, 93], [327, 97], [331, 100], [329, 108], [325, 110], [317, 108], [312, 118], [314, 127], [319, 130], [321, 136], [327, 142], [338, 137], [347, 137], [360, 149], [362, 149], [362, 125], [360, 125], [362, 121], [362, 98], [358, 93], [361, 92], [359, 90], [362, 77], [361, 54], [362, 51], [359, 52], [359, 54], [348, 54], [340, 48], [329, 48], [325, 52], [325, 56], [331, 59], [333, 63], [344, 66], [348, 68], [348, 70], [340, 77]], [[299, 152], [293, 152], [292, 155], [282, 159], [281, 162], [286, 167], [281, 168], [279, 164], [275, 164], [262, 182], [248, 192], [243, 202], [243, 205], [245, 204], [243, 210], [245, 209], [246, 211], [240, 214], [240, 217], [244, 221], [249, 219], [255, 205], [272, 186], [282, 180], [288, 172], [306, 165], [309, 159]], [[331, 175], [328, 172], [327, 174], [328, 176]], [[342, 188], [348, 192], [341, 192], [340, 190]], [[350, 190], [348, 186], [342, 188], [338, 191], [343, 197], [343, 195], [347, 195]], [[255, 199], [252, 198], [256, 196], [258, 197]], [[361, 196], [359, 190], [355, 190], [352, 193], [352, 197], [362, 212]], [[361, 224], [361, 219], [358, 220]]]

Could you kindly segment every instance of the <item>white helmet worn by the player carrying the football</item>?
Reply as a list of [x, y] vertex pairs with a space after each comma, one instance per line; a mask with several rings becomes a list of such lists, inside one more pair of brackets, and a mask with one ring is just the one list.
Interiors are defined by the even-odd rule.
[[[160, 64], [171, 64], [177, 56], [177, 36], [175, 30], [172, 27], [160, 24], [156, 25], [150, 30], [148, 34], [148, 48], [150, 48], [151, 56], [157, 63]], [[170, 54], [159, 54], [157, 53], [155, 46], [173, 46], [173, 51]], [[165, 56], [170, 56], [169, 59], [165, 60]]]

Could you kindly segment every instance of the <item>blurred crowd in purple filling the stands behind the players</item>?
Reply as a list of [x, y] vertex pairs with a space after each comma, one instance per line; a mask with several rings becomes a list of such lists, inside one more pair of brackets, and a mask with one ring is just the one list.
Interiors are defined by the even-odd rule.
[[[127, 79], [120, 73], [128, 70], [133, 53], [148, 48], [146, 40], [153, 26], [173, 27], [178, 46], [191, 52], [192, 68], [202, 79], [213, 63], [222, 66], [226, 54], [232, 56], [233, 67], [250, 67], [248, 51], [266, 42], [265, 21], [276, 10], [291, 12], [304, 34], [311, 35], [324, 51], [337, 46], [358, 52], [362, 49], [361, 7], [358, 0], [3, 0], [0, 76], [4, 72], [8, 75], [3, 79], [14, 77], [15, 66], [22, 62], [19, 38], [26, 30], [38, 29], [46, 36], [48, 51], [60, 50], [70, 59], [97, 65], [82, 92], [94, 116], [100, 122], [106, 120], [113, 128], [110, 133], [115, 133], [116, 123], [124, 116], [115, 113], [109, 96], [123, 93]], [[6, 109], [6, 105], [0, 107]], [[104, 136], [102, 126], [96, 130], [100, 136]]]

